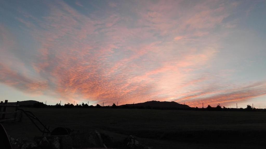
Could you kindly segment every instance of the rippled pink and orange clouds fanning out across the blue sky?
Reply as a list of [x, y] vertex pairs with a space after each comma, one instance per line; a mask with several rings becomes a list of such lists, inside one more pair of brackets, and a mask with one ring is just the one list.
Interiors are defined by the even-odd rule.
[[[216, 78], [227, 75], [209, 72], [222, 46], [217, 34], [227, 32], [230, 23], [223, 22], [238, 3], [110, 2], [90, 12], [81, 1], [43, 6], [44, 14], [22, 8], [14, 17], [29, 46], [1, 25], [1, 53], [13, 55], [0, 63], [1, 83], [55, 100], [110, 105], [174, 100], [196, 106], [265, 95], [264, 80], [232, 90]], [[14, 55], [23, 48], [26, 54]]]

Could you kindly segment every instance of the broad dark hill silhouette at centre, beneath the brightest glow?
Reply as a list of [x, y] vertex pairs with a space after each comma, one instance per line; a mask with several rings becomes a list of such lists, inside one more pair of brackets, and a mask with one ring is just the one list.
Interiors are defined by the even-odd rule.
[[143, 103], [135, 103], [135, 104], [124, 104], [119, 107], [151, 107], [151, 108], [191, 108], [186, 104], [179, 104], [177, 102], [168, 102], [168, 101], [147, 101]]

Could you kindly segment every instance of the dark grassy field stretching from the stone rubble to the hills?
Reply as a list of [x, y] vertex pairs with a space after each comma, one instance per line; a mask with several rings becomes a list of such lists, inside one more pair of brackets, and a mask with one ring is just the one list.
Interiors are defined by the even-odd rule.
[[[266, 112], [182, 111], [152, 109], [23, 108], [50, 130], [98, 130], [120, 140], [135, 135], [153, 148], [265, 148]], [[23, 115], [3, 123], [12, 137], [42, 135]]]

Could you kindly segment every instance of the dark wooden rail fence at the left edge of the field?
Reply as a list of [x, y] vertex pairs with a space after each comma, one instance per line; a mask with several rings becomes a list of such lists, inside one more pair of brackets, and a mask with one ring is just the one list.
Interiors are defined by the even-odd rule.
[[[7, 101], [8, 100], [5, 100], [4, 103], [3, 101], [1, 101], [0, 103], [0, 122], [11, 121], [16, 119], [16, 114], [18, 112], [18, 107], [19, 107], [19, 101], [17, 101], [16, 104], [7, 104]], [[7, 107], [13, 107], [13, 108], [9, 108], [9, 111], [7, 111]], [[14, 115], [12, 117], [6, 118], [6, 114], [14, 114]]]

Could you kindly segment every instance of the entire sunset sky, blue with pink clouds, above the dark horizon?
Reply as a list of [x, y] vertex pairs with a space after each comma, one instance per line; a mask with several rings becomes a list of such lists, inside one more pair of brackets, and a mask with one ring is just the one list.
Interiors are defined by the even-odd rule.
[[266, 1], [0, 0], [0, 99], [266, 105]]

